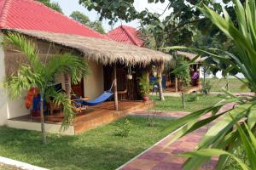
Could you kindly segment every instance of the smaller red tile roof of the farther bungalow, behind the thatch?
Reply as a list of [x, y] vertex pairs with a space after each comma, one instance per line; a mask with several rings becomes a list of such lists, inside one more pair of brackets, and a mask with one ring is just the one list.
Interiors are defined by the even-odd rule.
[[136, 28], [131, 26], [119, 26], [109, 31], [107, 36], [117, 42], [125, 42], [142, 47], [144, 42], [137, 36]]

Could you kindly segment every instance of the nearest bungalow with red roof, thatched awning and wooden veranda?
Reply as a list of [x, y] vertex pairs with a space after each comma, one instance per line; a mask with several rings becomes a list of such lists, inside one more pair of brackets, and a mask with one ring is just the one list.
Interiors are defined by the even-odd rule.
[[[107, 112], [110, 110], [114, 111], [113, 106], [102, 105], [102, 110], [81, 115], [79, 120], [76, 119], [74, 122], [77, 124], [74, 123], [73, 127], [67, 129], [68, 134], [79, 133], [84, 129], [95, 127], [98, 122], [110, 122], [119, 117], [120, 111], [125, 113], [132, 109], [135, 103], [120, 102], [118, 94], [122, 95], [122, 99], [126, 101], [140, 99], [137, 76], [141, 74], [142, 68], [147, 70], [153, 63], [160, 66], [172, 58], [171, 55], [148, 48], [111, 41], [107, 36], [33, 0], [1, 0], [0, 11], [1, 39], [8, 31], [25, 35], [38, 45], [42, 62], [47, 62], [47, 59], [54, 54], [63, 52], [71, 52], [88, 59], [90, 76], [84, 77], [77, 85], [71, 84], [70, 77], [67, 75], [55, 75], [53, 83], [60, 84], [66, 92], [73, 91], [79, 96], [96, 99], [104, 90], [110, 88], [113, 79], [117, 80], [117, 86], [114, 87], [116, 92], [114, 93], [114, 103], [112, 102], [111, 105], [114, 104], [116, 110], [119, 105], [119, 111], [108, 114]], [[0, 81], [3, 82], [5, 77], [15, 73], [20, 63], [26, 62], [24, 54], [14, 48], [0, 47]], [[131, 80], [127, 80], [125, 77], [131, 70], [136, 74]], [[72, 89], [68, 89], [69, 87]], [[0, 89], [0, 93], [2, 95], [0, 126], [40, 130], [38, 121], [32, 119], [29, 116], [30, 111], [26, 110], [24, 97], [10, 100], [3, 88]], [[131, 108], [129, 108], [130, 106]], [[108, 121], [106, 121], [106, 117], [93, 119], [99, 116], [108, 116]], [[57, 127], [61, 126], [61, 116], [51, 115], [48, 118], [49, 124], [46, 125], [46, 130], [58, 132], [59, 128]], [[93, 125], [89, 127], [89, 124]]]

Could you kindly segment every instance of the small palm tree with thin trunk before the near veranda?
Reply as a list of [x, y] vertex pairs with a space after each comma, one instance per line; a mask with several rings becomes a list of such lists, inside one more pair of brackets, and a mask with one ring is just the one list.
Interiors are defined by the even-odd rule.
[[4, 88], [8, 89], [9, 97], [16, 99], [20, 97], [24, 90], [38, 88], [40, 99], [40, 115], [41, 115], [41, 133], [42, 142], [46, 143], [44, 129], [44, 99], [53, 99], [55, 105], [63, 105], [64, 119], [62, 126], [67, 126], [73, 121], [73, 105], [67, 94], [56, 92], [54, 88], [50, 88], [49, 84], [54, 81], [54, 77], [58, 73], [66, 73], [71, 77], [71, 82], [78, 83], [84, 75], [89, 72], [87, 62], [73, 54], [55, 54], [55, 56], [43, 63], [38, 57], [38, 48], [36, 45], [27, 40], [26, 37], [18, 33], [9, 33], [4, 37], [3, 45], [11, 45], [17, 48], [20, 53], [26, 55], [28, 64], [21, 64], [17, 73], [13, 73], [4, 82]]

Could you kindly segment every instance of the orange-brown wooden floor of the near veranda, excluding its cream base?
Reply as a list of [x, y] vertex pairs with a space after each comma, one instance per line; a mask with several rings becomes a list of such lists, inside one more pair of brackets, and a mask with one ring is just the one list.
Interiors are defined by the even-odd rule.
[[[91, 128], [113, 122], [126, 116], [131, 111], [146, 110], [153, 106], [153, 102], [147, 104], [142, 101], [121, 101], [119, 102], [119, 111], [114, 111], [113, 102], [105, 102], [102, 105], [91, 106], [86, 111], [77, 114], [73, 120], [74, 133], [82, 133]], [[11, 119], [20, 122], [40, 122], [40, 118], [31, 116], [20, 116]], [[63, 120], [62, 113], [55, 113], [52, 116], [45, 116], [45, 122], [49, 124], [61, 124]]]

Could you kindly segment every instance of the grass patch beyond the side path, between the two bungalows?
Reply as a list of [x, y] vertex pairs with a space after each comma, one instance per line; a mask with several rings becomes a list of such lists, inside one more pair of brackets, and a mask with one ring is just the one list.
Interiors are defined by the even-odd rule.
[[185, 109], [182, 106], [181, 97], [170, 97], [166, 96], [165, 101], [160, 101], [158, 96], [151, 96], [150, 99], [155, 101], [156, 111], [199, 111], [216, 104], [220, 98], [217, 95], [201, 95], [198, 94], [198, 99], [191, 101], [195, 97], [195, 94], [185, 95]]

